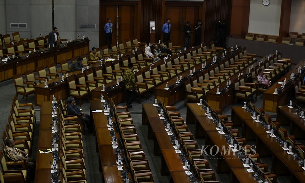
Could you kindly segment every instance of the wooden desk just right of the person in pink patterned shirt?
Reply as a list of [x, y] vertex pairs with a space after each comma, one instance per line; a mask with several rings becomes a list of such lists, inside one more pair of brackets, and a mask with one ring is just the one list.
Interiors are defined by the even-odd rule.
[[[263, 108], [267, 112], [274, 112], [277, 111], [278, 105], [287, 104], [287, 102], [292, 98], [294, 93], [294, 86], [293, 82], [287, 88], [282, 90], [282, 93], [273, 94], [275, 91], [275, 87], [278, 89], [282, 86], [282, 84], [278, 84], [278, 82], [282, 82], [284, 79], [287, 81], [290, 78], [290, 74], [295, 72], [299, 66], [303, 66], [303, 62], [300, 61], [294, 68], [288, 71], [282, 78], [280, 78], [276, 83], [270, 86], [266, 91], [264, 91], [264, 100], [263, 100]], [[302, 78], [301, 78], [302, 79]]]

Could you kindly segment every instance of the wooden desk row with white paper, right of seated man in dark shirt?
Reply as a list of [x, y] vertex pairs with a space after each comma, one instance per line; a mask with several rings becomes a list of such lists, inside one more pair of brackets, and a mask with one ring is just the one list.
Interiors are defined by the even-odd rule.
[[[95, 135], [96, 135], [96, 152], [99, 153], [99, 171], [103, 174], [102, 182], [113, 183], [122, 182], [121, 171], [117, 168], [117, 156], [115, 149], [112, 148], [110, 131], [107, 127], [107, 116], [103, 113], [95, 113], [92, 111], [103, 110], [104, 104], [98, 100], [90, 100], [90, 112], [94, 121]], [[119, 134], [116, 133], [116, 138], [119, 139]], [[118, 145], [120, 141], [118, 141]], [[120, 147], [120, 146], [119, 146]], [[124, 159], [124, 153], [122, 150], [122, 159]], [[126, 168], [125, 165], [122, 167]], [[131, 180], [131, 174], [128, 174]]]

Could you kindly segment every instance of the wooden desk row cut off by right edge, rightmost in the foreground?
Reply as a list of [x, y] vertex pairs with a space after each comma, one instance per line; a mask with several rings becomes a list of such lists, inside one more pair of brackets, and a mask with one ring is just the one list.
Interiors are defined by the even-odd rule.
[[289, 108], [287, 105], [278, 106], [276, 120], [281, 125], [290, 125], [290, 135], [304, 139], [304, 119], [296, 114], [294, 108]]

